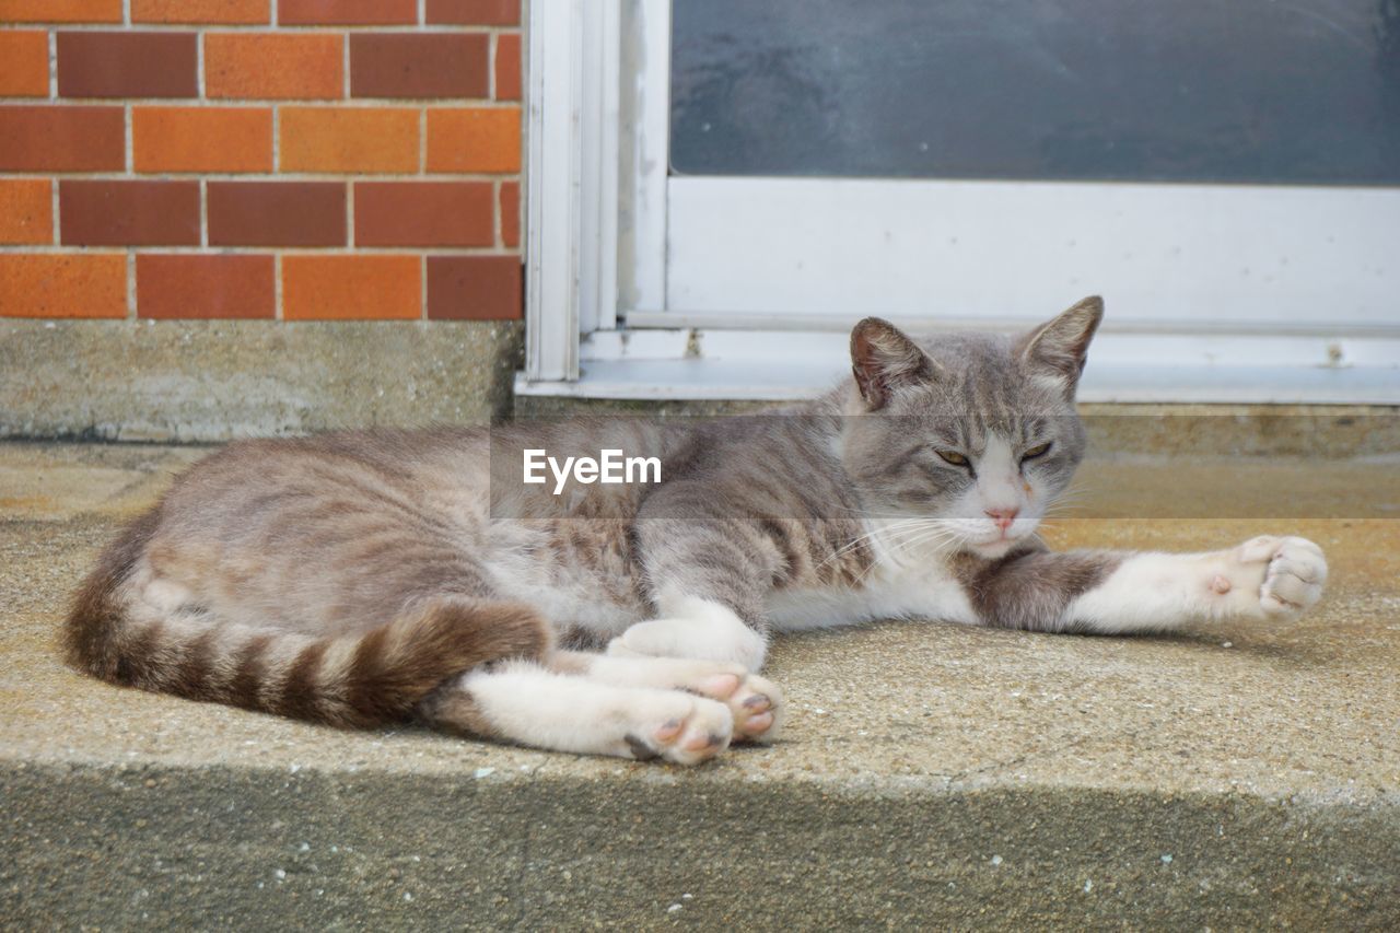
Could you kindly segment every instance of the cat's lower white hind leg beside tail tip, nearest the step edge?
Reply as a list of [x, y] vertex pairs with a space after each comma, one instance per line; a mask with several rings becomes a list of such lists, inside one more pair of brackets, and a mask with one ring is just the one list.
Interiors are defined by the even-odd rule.
[[421, 721], [463, 735], [584, 755], [697, 765], [729, 745], [725, 703], [678, 689], [613, 686], [532, 661], [482, 667], [417, 706]]

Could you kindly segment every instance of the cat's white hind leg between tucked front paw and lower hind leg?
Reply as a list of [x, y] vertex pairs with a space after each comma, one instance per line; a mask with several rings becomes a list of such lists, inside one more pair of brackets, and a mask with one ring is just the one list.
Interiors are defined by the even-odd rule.
[[552, 670], [615, 686], [680, 689], [720, 700], [734, 716], [734, 741], [774, 741], [787, 713], [777, 684], [750, 674], [742, 664], [582, 651], [554, 651], [546, 663]]

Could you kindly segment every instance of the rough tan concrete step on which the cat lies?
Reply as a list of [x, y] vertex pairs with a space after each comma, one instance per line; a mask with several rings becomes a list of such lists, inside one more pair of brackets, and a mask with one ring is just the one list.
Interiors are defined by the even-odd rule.
[[[788, 637], [784, 740], [685, 770], [337, 733], [66, 670], [67, 593], [200, 454], [0, 444], [0, 926], [1400, 922], [1393, 461], [1091, 462], [1054, 544], [1299, 532], [1329, 595], [1291, 626], [1176, 637]], [[1183, 497], [1232, 517], [1162, 517]]]

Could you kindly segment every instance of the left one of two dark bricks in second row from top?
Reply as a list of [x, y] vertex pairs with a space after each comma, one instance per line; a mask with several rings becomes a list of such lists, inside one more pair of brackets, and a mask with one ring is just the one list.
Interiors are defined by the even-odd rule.
[[193, 32], [60, 32], [63, 97], [199, 97]]

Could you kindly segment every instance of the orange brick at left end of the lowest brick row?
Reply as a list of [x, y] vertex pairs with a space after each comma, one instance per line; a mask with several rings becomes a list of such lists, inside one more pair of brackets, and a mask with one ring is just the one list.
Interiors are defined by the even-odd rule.
[[123, 254], [0, 254], [0, 318], [125, 317]]

